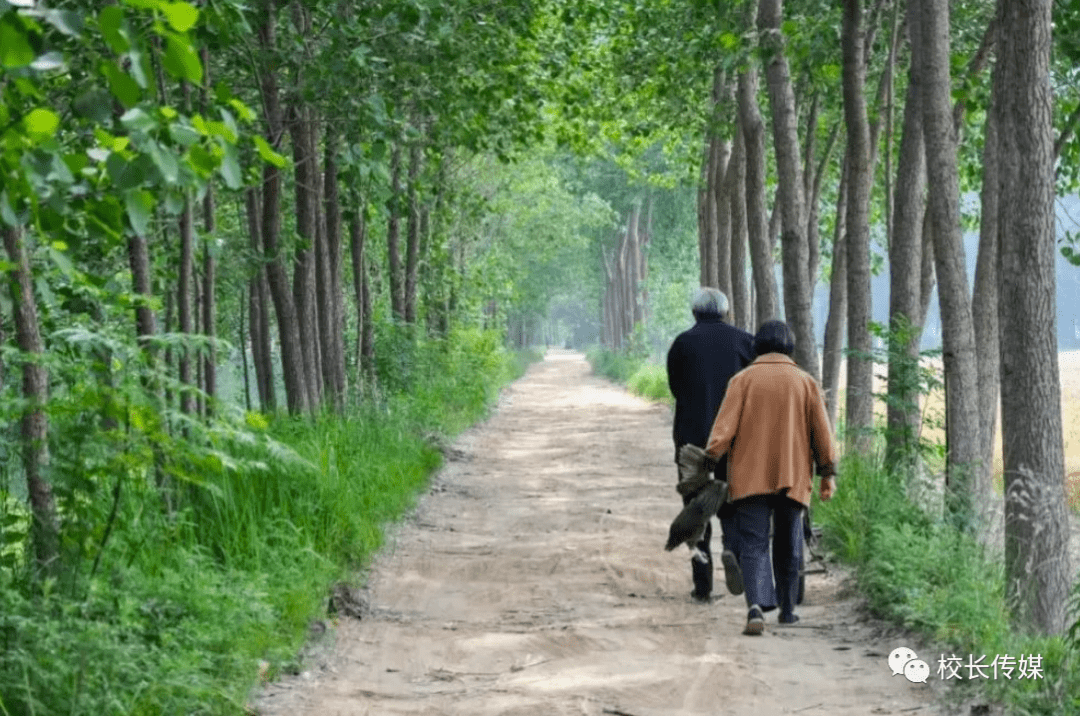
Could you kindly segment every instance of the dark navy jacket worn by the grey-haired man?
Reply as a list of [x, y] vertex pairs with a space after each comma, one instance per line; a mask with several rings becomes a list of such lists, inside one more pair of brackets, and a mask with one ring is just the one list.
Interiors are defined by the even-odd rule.
[[687, 443], [704, 447], [728, 381], [754, 360], [754, 336], [702, 316], [667, 351], [667, 386], [675, 396], [675, 458]]

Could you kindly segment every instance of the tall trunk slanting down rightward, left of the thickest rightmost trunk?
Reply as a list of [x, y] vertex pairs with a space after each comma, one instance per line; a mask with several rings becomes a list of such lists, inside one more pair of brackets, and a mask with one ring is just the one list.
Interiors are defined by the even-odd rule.
[[934, 233], [945, 365], [946, 504], [972, 526], [972, 475], [978, 470], [978, 373], [975, 332], [960, 232], [960, 180], [953, 125], [947, 0], [918, 0], [922, 37], [912, 62], [921, 75], [927, 186]]

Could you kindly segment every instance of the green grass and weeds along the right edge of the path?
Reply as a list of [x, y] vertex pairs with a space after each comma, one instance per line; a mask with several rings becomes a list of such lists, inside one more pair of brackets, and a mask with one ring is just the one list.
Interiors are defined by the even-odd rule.
[[[1045, 678], [980, 680], [1015, 714], [1080, 714], [1080, 621], [1064, 637], [1010, 631], [1001, 560], [970, 535], [932, 518], [906, 497], [904, 481], [859, 456], [845, 458], [832, 501], [813, 508], [825, 544], [856, 569], [877, 616], [922, 639], [937, 654], [1041, 654]], [[1080, 619], [1080, 587], [1071, 619]]]

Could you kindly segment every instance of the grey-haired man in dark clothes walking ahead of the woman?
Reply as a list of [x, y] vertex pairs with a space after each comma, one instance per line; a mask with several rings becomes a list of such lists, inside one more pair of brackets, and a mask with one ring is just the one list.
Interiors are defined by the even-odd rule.
[[[705, 447], [716, 414], [731, 376], [754, 360], [754, 337], [725, 323], [728, 298], [716, 288], [703, 287], [690, 307], [694, 325], [679, 334], [667, 351], [667, 386], [675, 396], [675, 461], [686, 444]], [[716, 467], [717, 479], [727, 479], [727, 462]], [[686, 504], [691, 496], [684, 496]], [[721, 563], [728, 590], [742, 593], [734, 516], [730, 505], [719, 511], [724, 552]], [[705, 527], [690, 560], [693, 593], [698, 602], [708, 602], [713, 592], [713, 557], [710, 552], [712, 525]]]

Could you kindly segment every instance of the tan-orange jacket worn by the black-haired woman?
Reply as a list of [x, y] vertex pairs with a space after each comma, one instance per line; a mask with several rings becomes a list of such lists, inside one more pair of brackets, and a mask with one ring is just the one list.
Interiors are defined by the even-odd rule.
[[818, 382], [782, 353], [760, 355], [737, 373], [705, 448], [728, 454], [731, 500], [770, 495], [810, 504], [811, 469], [836, 472], [836, 447]]

